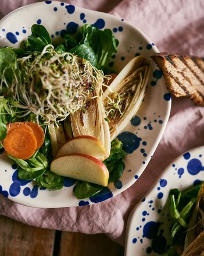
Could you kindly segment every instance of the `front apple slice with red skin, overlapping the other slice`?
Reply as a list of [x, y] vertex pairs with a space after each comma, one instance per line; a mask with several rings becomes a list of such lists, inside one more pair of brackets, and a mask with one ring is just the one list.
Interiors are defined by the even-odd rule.
[[107, 186], [109, 171], [100, 160], [84, 154], [59, 156], [51, 163], [51, 171], [60, 176]]

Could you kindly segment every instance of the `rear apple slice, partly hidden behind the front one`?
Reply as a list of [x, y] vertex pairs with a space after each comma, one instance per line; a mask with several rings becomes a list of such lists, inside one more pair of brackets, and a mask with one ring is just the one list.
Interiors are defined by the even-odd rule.
[[72, 153], [89, 155], [101, 161], [109, 157], [109, 153], [102, 142], [99, 141], [99, 139], [88, 135], [71, 138], [59, 149], [56, 157]]

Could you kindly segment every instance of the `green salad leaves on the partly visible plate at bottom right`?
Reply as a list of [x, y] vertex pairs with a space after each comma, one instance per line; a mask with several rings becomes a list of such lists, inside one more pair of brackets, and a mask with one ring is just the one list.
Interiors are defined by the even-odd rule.
[[173, 218], [173, 226], [171, 227], [171, 246], [163, 256], [177, 256], [176, 247], [184, 244], [185, 234], [187, 232], [189, 220], [198, 197], [202, 183], [188, 188], [181, 192], [178, 188], [174, 188], [169, 192], [170, 199], [170, 215]]

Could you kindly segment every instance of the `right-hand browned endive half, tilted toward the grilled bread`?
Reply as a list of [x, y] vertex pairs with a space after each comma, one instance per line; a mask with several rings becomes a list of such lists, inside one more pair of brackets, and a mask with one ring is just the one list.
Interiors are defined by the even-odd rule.
[[135, 57], [105, 90], [102, 100], [109, 121], [111, 141], [138, 111], [144, 99], [149, 73], [149, 61], [142, 56]]

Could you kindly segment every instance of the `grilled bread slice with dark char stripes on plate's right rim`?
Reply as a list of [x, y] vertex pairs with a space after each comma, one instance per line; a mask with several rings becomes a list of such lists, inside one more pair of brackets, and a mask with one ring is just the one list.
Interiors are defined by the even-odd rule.
[[188, 97], [204, 106], [204, 58], [171, 52], [151, 56], [163, 72], [167, 88], [176, 97]]

